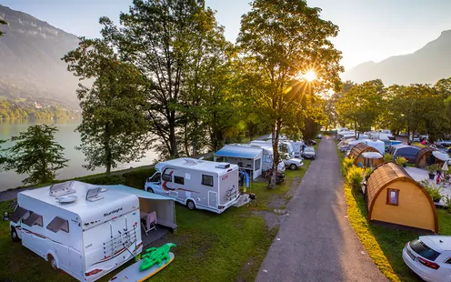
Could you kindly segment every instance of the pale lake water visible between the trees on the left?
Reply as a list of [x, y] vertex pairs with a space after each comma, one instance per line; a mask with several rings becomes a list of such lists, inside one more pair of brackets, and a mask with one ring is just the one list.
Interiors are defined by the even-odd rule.
[[[0, 139], [9, 139], [11, 136], [16, 136], [19, 132], [26, 131], [28, 126], [35, 124], [53, 124], [58, 128], [58, 132], [55, 134], [55, 141], [61, 146], [65, 147], [65, 158], [69, 159], [67, 167], [57, 171], [57, 179], [73, 178], [76, 176], [87, 176], [95, 173], [105, 172], [105, 168], [100, 167], [95, 171], [86, 170], [82, 165], [85, 164], [85, 155], [82, 151], [75, 150], [75, 146], [79, 146], [81, 143], [80, 133], [75, 132], [76, 126], [78, 126], [80, 120], [67, 120], [67, 121], [26, 121], [26, 120], [4, 120], [0, 122]], [[7, 142], [2, 147], [11, 146], [10, 142]], [[154, 151], [148, 151], [145, 157], [139, 162], [132, 162], [127, 164], [119, 164], [115, 170], [129, 168], [130, 166], [147, 166], [152, 165], [156, 158]], [[5, 191], [9, 188], [15, 188], [22, 186], [22, 180], [26, 178], [26, 175], [17, 175], [15, 171], [3, 171], [0, 172], [0, 191]]]

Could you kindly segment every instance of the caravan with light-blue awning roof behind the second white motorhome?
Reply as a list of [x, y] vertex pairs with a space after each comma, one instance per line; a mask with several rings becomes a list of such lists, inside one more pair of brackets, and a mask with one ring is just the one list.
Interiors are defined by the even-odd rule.
[[252, 179], [262, 175], [263, 148], [230, 144], [215, 153], [215, 162], [227, 162], [246, 170]]

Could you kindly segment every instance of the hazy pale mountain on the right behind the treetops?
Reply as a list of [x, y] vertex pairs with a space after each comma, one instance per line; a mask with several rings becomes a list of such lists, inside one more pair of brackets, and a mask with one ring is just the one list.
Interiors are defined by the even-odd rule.
[[451, 30], [442, 32], [436, 40], [412, 54], [357, 65], [342, 76], [343, 80], [356, 83], [380, 78], [386, 86], [435, 84], [448, 77], [451, 77]]

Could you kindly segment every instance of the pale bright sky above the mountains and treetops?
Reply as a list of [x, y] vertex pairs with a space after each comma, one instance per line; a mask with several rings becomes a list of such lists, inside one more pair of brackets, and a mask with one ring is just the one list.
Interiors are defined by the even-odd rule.
[[[205, 0], [226, 39], [235, 42], [241, 15], [250, 0]], [[99, 36], [98, 18], [106, 15], [118, 24], [119, 13], [132, 0], [0, 0], [74, 35]], [[321, 17], [340, 27], [332, 42], [343, 52], [346, 70], [364, 62], [409, 54], [451, 29], [451, 0], [307, 0], [322, 9]]]

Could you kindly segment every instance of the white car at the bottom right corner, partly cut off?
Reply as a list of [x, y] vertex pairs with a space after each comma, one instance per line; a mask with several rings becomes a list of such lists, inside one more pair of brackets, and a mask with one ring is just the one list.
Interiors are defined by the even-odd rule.
[[420, 236], [406, 243], [403, 259], [425, 281], [451, 281], [451, 236]]

